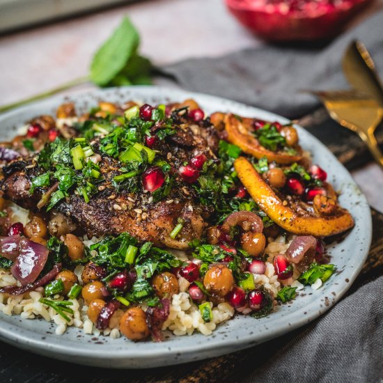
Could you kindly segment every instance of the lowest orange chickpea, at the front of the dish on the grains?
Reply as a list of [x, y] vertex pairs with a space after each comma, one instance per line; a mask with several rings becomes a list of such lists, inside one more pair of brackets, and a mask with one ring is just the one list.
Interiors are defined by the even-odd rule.
[[120, 331], [132, 341], [148, 338], [150, 332], [142, 308], [132, 307], [120, 319]]

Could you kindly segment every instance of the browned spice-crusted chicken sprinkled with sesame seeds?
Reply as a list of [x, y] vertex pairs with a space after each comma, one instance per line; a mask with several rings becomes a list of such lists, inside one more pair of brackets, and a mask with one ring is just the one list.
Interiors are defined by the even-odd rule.
[[[170, 187], [162, 198], [151, 193], [163, 185], [164, 171], [158, 164], [149, 166], [149, 172], [147, 170], [134, 180], [136, 183], [142, 181], [143, 188], [137, 187], [132, 192], [130, 187], [116, 187], [114, 178], [124, 175], [120, 171], [123, 163], [104, 152], [104, 136], [95, 136], [90, 140], [90, 145], [93, 149], [92, 157], [99, 160], [99, 179], [102, 178], [101, 181], [97, 179], [97, 183], [95, 182], [96, 191], [92, 193], [89, 201], [85, 201], [79, 194], [79, 189], [72, 187], [67, 191], [65, 198], [54, 205], [54, 209], [70, 217], [77, 224], [77, 228], [84, 230], [88, 236], [116, 235], [127, 231], [140, 242], [150, 241], [158, 246], [174, 249], [187, 249], [189, 242], [201, 239], [203, 229], [207, 226], [205, 219], [212, 210], [198, 203], [196, 190], [189, 182], [182, 180], [182, 173], [178, 169], [196, 156], [203, 156], [203, 161], [214, 161], [218, 137], [208, 121], [201, 120], [198, 123], [182, 114], [185, 114], [185, 109], [179, 114], [173, 114], [171, 125], [166, 127], [172, 130], [167, 132], [171, 134], [162, 140], [156, 139], [150, 149], [155, 153], [156, 159], [166, 161], [166, 168], [169, 168], [165, 177]], [[156, 134], [162, 129], [164, 128], [161, 125], [156, 124], [151, 127], [150, 132]], [[42, 171], [36, 156], [13, 160], [3, 167], [3, 196], [23, 208], [38, 210], [41, 208], [39, 201], [44, 198], [49, 187], [52, 189], [53, 184], [53, 187], [56, 185], [54, 192], [57, 189], [57, 183], [50, 182], [49, 187], [37, 187], [30, 193], [33, 180], [36, 180], [36, 176]], [[127, 180], [134, 183], [132, 178]], [[146, 187], [145, 182], [149, 184]], [[159, 182], [161, 185], [153, 185], [153, 182]], [[182, 229], [175, 238], [171, 233], [178, 222], [182, 222]]]

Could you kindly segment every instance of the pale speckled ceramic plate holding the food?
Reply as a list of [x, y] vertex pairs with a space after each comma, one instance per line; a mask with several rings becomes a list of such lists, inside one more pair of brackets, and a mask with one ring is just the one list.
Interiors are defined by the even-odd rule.
[[[243, 116], [253, 116], [265, 120], [287, 120], [267, 111], [247, 107], [244, 104], [224, 100], [210, 95], [188, 93], [166, 88], [132, 87], [111, 88], [72, 95], [79, 111], [95, 106], [97, 100], [122, 102], [143, 100], [149, 104], [176, 102], [194, 98], [208, 113], [231, 111]], [[68, 100], [68, 99], [65, 99]], [[1, 141], [15, 134], [15, 127], [22, 125], [33, 116], [54, 114], [63, 97], [31, 104], [0, 116]], [[357, 277], [368, 253], [371, 240], [370, 208], [366, 198], [355, 185], [350, 174], [337, 161], [325, 146], [301, 127], [299, 137], [302, 146], [313, 153], [315, 163], [319, 163], [329, 174], [329, 181], [336, 190], [341, 190], [341, 205], [350, 210], [355, 219], [355, 227], [341, 243], [329, 246], [332, 263], [338, 267], [334, 275], [319, 290], [306, 287], [304, 296], [299, 296], [291, 304], [278, 306], [274, 313], [259, 320], [237, 315], [233, 320], [220, 325], [211, 336], [170, 336], [162, 343], [150, 341], [133, 343], [126, 338], [116, 340], [99, 336], [84, 336], [81, 329], [70, 328], [62, 336], [54, 334], [55, 325], [45, 320], [22, 320], [0, 314], [0, 337], [3, 341], [47, 357], [54, 357], [78, 364], [111, 368], [148, 368], [180, 364], [258, 345], [269, 339], [296, 329], [325, 313], [350, 288]]]

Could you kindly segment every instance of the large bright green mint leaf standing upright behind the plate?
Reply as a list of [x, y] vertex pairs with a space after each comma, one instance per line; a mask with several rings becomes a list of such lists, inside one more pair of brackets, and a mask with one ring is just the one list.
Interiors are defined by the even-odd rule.
[[127, 17], [97, 50], [91, 63], [91, 80], [106, 86], [123, 70], [139, 47], [139, 33]]

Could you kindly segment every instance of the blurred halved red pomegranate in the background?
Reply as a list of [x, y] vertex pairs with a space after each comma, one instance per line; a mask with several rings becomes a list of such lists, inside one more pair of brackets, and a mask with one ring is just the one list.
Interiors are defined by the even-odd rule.
[[[370, 1], [225, 0], [230, 12], [244, 26], [270, 41], [332, 38]], [[295, 4], [303, 9], [293, 9]]]

